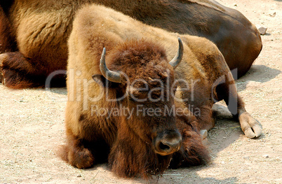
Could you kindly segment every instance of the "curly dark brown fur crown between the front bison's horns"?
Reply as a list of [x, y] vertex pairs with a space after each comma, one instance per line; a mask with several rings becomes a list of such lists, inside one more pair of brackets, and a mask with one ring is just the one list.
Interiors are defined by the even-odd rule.
[[107, 59], [109, 69], [123, 71], [132, 80], [140, 78], [163, 80], [168, 77], [167, 70], [170, 70], [170, 77], [173, 77], [173, 68], [168, 64], [164, 48], [152, 41], [145, 39], [126, 41], [112, 53]]

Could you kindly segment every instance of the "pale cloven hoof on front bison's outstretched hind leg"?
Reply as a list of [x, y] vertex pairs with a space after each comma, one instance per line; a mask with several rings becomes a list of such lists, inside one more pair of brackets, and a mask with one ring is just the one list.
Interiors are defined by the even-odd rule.
[[262, 134], [262, 127], [249, 113], [245, 112], [239, 116], [241, 129], [248, 138], [259, 137]]

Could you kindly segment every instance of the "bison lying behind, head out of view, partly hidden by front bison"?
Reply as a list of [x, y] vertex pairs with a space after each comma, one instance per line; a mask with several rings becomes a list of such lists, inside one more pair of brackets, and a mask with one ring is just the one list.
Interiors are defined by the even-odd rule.
[[[76, 11], [100, 3], [130, 17], [179, 34], [203, 36], [220, 49], [230, 69], [242, 76], [262, 48], [260, 34], [237, 10], [196, 0], [9, 0], [0, 2], [0, 69], [11, 88], [37, 87], [67, 67], [67, 39]], [[0, 75], [1, 76], [1, 75]], [[53, 85], [65, 85], [55, 75]]]

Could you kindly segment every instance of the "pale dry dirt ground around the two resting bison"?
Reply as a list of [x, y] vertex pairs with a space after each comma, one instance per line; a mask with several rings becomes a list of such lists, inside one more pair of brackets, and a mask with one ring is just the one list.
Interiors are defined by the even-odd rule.
[[210, 164], [168, 169], [150, 181], [117, 178], [107, 164], [75, 169], [55, 154], [65, 141], [64, 88], [9, 90], [0, 85], [0, 183], [282, 183], [282, 2], [219, 2], [268, 27], [260, 56], [237, 80], [247, 111], [262, 124], [260, 138], [247, 139], [220, 103], [217, 124], [208, 133]]

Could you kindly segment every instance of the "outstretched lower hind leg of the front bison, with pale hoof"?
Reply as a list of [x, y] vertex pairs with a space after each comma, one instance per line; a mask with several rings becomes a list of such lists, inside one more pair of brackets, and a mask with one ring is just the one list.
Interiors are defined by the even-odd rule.
[[262, 134], [260, 123], [247, 113], [243, 100], [236, 91], [235, 82], [230, 73], [225, 76], [224, 83], [217, 85], [216, 92], [217, 99], [224, 99], [231, 114], [239, 119], [241, 129], [248, 138], [258, 137]]

